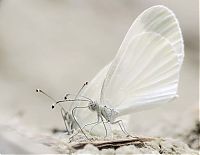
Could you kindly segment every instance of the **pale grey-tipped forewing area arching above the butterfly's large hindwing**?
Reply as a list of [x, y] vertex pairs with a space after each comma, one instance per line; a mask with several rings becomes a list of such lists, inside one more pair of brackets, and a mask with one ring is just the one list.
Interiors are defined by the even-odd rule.
[[159, 33], [167, 39], [178, 55], [180, 65], [184, 57], [184, 45], [179, 22], [175, 14], [165, 6], [153, 6], [140, 14], [128, 30], [118, 55], [122, 54], [129, 41], [136, 35], [144, 32]]

